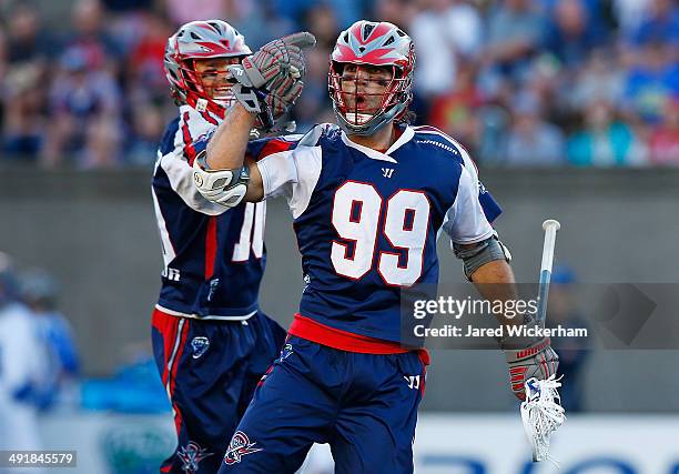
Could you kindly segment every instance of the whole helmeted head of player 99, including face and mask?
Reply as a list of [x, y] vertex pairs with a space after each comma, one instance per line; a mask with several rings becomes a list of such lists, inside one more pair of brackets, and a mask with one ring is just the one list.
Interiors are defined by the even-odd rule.
[[412, 100], [414, 47], [396, 26], [358, 21], [331, 54], [328, 92], [342, 129], [369, 135], [401, 119]]

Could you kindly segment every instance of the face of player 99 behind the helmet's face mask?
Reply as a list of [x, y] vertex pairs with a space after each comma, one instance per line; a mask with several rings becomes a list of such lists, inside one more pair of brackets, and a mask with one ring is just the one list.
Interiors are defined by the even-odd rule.
[[[368, 120], [379, 112], [393, 77], [392, 67], [346, 64], [342, 70], [342, 99], [348, 113], [355, 112]], [[362, 121], [359, 117], [356, 119], [356, 122]]]

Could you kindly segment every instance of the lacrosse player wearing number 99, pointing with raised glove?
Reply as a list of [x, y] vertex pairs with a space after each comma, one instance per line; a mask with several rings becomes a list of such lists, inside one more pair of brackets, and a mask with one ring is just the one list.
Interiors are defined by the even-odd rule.
[[[197, 190], [215, 203], [286, 199], [306, 283], [220, 473], [293, 473], [313, 443], [330, 443], [337, 473], [412, 473], [428, 355], [399, 344], [402, 291], [436, 286], [443, 230], [484, 296], [514, 296], [489, 223], [499, 208], [457, 141], [407, 123], [414, 46], [392, 23], [340, 34], [328, 73], [337, 124], [267, 155], [270, 142], [249, 143], [265, 99], [285, 108], [297, 94], [296, 63], [312, 43], [297, 33], [230, 68], [239, 103], [194, 162]], [[517, 394], [526, 377], [556, 371], [549, 340], [503, 346]]]

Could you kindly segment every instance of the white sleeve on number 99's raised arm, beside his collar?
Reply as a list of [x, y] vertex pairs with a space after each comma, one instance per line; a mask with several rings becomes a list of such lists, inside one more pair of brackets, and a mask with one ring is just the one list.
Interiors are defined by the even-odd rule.
[[324, 125], [316, 125], [302, 137], [296, 148], [268, 154], [257, 161], [264, 199], [285, 196], [294, 219], [308, 206], [322, 169], [318, 138]]

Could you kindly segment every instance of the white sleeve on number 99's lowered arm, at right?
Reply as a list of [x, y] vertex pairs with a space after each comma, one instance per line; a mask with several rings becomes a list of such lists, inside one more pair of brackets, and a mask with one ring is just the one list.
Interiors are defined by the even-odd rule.
[[446, 212], [443, 230], [454, 243], [476, 243], [488, 239], [495, 232], [486, 219], [479, 201], [479, 181], [476, 165], [460, 145], [462, 172], [455, 202]]

